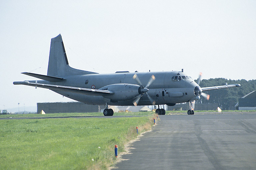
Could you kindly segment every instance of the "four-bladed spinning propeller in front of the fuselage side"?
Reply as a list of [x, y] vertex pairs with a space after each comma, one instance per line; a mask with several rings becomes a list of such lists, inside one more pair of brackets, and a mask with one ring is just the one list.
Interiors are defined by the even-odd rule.
[[142, 96], [144, 93], [147, 95], [147, 97], [148, 97], [148, 99], [150, 100], [150, 102], [152, 103], [152, 105], [155, 105], [156, 102], [147, 94], [147, 91], [149, 91], [149, 89], [147, 89], [147, 88], [148, 88], [148, 87], [150, 86], [150, 84], [156, 79], [155, 76], [152, 75], [152, 76], [150, 77], [150, 79], [149, 79], [149, 81], [148, 81], [148, 84], [147, 84], [145, 87], [142, 86], [142, 83], [141, 83], [139, 77], [137, 76], [137, 74], [134, 74], [134, 76], [133, 76], [132, 78], [133, 78], [135, 81], [137, 81], [137, 83], [140, 85], [140, 87], [139, 87], [139, 94], [140, 94], [140, 95], [138, 95], [138, 96], [135, 98], [135, 100], [133, 101], [134, 106], [137, 106], [137, 105], [138, 105], [138, 102], [139, 102], [141, 96]]

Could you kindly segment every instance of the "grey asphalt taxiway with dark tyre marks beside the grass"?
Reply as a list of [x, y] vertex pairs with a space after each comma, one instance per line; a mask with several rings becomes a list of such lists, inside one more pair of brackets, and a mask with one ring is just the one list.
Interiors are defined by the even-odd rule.
[[256, 113], [160, 115], [120, 170], [256, 169]]

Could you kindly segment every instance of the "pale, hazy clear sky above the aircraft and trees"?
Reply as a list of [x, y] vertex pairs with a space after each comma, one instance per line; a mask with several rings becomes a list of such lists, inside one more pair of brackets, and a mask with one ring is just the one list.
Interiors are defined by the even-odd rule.
[[255, 0], [1, 1], [0, 110], [73, 101], [13, 85], [36, 79], [21, 72], [47, 74], [51, 38], [59, 34], [77, 69], [256, 79], [255, 9]]

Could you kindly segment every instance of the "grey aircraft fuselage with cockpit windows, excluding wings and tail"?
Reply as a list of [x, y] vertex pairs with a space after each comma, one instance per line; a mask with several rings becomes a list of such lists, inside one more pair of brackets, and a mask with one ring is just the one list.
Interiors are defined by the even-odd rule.
[[[66, 80], [62, 82], [48, 82], [45, 80], [37, 81], [38, 83], [46, 83], [61, 86], [75, 86], [88, 89], [100, 89], [111, 84], [138, 84], [134, 79], [135, 73], [112, 73], [112, 74], [86, 74], [72, 75], [63, 77]], [[176, 103], [187, 102], [195, 98], [194, 89], [198, 84], [185, 75], [183, 72], [136, 72], [143, 86], [146, 86], [150, 77], [155, 76], [157, 81], [154, 81], [149, 87], [147, 94], [156, 102], [156, 105], [174, 105]], [[177, 75], [178, 74], [178, 75]], [[173, 80], [173, 77], [183, 77]], [[185, 76], [185, 78], [184, 78]], [[187, 78], [186, 78], [187, 77]], [[31, 82], [31, 81], [30, 81]], [[80, 101], [86, 104], [104, 105], [108, 102], [109, 105], [131, 106], [133, 100], [126, 101], [110, 101], [103, 96], [82, 95], [71, 92], [55, 91], [63, 96]], [[120, 92], [122, 93], [122, 92]], [[144, 94], [138, 105], [152, 105], [148, 97]]]

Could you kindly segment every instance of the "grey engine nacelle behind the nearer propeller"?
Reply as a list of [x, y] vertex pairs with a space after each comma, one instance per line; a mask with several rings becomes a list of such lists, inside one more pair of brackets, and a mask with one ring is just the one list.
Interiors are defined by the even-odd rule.
[[111, 99], [113, 101], [126, 101], [132, 100], [138, 95], [140, 86], [136, 84], [111, 84], [104, 86], [99, 90], [109, 90], [114, 92], [114, 94], [104, 96], [105, 98]]

